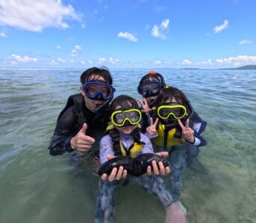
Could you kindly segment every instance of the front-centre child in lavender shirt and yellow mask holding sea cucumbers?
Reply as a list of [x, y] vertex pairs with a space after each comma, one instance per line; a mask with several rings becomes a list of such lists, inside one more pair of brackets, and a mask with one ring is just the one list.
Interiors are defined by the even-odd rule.
[[[119, 95], [111, 103], [110, 113], [112, 124], [107, 127], [107, 135], [100, 142], [101, 164], [106, 164], [114, 156], [136, 158], [140, 154], [153, 153], [150, 139], [140, 132], [141, 111], [134, 98]], [[168, 153], [161, 152], [159, 155], [168, 155]], [[166, 175], [169, 173], [169, 167], [163, 167], [161, 161], [157, 165], [160, 167], [160, 172], [157, 174]], [[146, 175], [140, 175], [134, 180], [149, 192], [154, 193], [163, 207], [166, 207], [166, 223], [186, 223], [186, 216], [182, 210], [177, 210], [176, 204], [172, 202], [172, 194], [167, 189], [163, 179], [155, 173], [152, 175], [152, 170], [148, 167]], [[96, 223], [114, 222], [114, 195], [120, 180], [127, 177], [128, 171], [122, 166], [114, 167], [108, 175], [107, 173], [102, 174], [96, 202]]]

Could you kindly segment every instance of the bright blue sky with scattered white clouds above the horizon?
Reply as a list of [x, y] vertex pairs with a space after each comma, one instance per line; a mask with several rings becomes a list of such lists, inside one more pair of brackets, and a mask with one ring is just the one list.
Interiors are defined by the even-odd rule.
[[255, 0], [0, 0], [0, 67], [256, 64]]

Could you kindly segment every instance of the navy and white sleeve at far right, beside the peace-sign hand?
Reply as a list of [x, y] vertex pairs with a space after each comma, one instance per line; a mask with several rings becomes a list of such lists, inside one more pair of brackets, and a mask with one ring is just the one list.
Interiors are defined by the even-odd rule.
[[202, 138], [201, 134], [202, 132], [205, 131], [207, 122], [202, 120], [202, 118], [199, 117], [199, 114], [197, 114], [195, 111], [193, 116], [190, 117], [190, 120], [191, 120], [190, 128], [194, 130], [194, 136], [195, 136], [195, 142], [193, 143], [193, 145], [205, 146], [207, 143], [206, 143], [206, 140]]

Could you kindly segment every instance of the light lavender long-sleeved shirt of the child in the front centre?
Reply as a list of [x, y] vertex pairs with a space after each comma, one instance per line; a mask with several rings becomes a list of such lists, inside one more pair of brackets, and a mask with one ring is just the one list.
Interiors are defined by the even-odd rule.
[[[120, 133], [119, 136], [125, 148], [129, 148], [134, 143], [134, 138], [131, 135], [123, 135]], [[140, 141], [145, 143], [143, 144], [141, 153], [153, 153], [153, 146], [147, 135], [140, 133]], [[115, 155], [113, 152], [113, 143], [110, 135], [105, 135], [100, 141], [99, 158], [101, 164], [104, 164], [104, 162], [107, 161], [107, 155]]]

